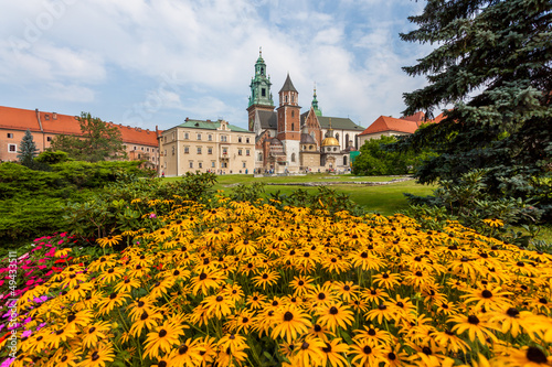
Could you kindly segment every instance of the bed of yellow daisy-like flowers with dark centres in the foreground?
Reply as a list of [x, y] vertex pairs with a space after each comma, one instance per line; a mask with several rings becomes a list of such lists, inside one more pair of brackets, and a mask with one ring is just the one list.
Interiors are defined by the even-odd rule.
[[13, 366], [551, 363], [546, 253], [456, 223], [220, 201], [28, 290]]

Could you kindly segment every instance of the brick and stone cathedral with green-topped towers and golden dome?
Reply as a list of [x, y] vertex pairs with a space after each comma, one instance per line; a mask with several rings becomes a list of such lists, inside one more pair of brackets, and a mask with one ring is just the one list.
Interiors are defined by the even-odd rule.
[[251, 80], [247, 107], [250, 131], [255, 132], [257, 172], [298, 173], [346, 171], [357, 136], [364, 129], [349, 118], [323, 116], [316, 88], [308, 111], [301, 114], [299, 91], [289, 74], [274, 105], [270, 77], [259, 52]]

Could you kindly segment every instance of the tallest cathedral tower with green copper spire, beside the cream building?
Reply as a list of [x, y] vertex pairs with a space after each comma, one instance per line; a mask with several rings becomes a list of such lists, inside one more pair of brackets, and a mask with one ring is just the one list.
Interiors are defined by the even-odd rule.
[[255, 63], [255, 76], [252, 77], [250, 84], [251, 96], [247, 106], [250, 131], [253, 131], [256, 110], [274, 110], [270, 86], [270, 76], [266, 76], [266, 64], [263, 58], [263, 51], [259, 48], [258, 58]]

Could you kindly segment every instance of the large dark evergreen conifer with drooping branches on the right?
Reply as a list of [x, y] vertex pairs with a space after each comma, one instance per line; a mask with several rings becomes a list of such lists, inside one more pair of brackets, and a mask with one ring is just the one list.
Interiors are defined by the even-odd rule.
[[428, 80], [404, 94], [404, 115], [454, 108], [394, 149], [437, 153], [416, 172], [422, 183], [482, 169], [490, 197], [534, 198], [552, 211], [552, 2], [428, 0], [408, 19], [418, 28], [401, 37], [437, 47], [404, 67]]

